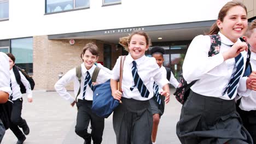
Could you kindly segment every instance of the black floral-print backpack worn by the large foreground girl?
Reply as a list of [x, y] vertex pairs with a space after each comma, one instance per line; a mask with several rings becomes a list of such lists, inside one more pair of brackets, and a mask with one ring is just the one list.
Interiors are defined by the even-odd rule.
[[[219, 53], [220, 45], [222, 43], [220, 41], [220, 36], [218, 34], [209, 35], [209, 36], [211, 38], [211, 47], [210, 47], [210, 50], [208, 51], [208, 57], [212, 57]], [[240, 40], [243, 42], [246, 42], [242, 38], [240, 38]], [[251, 58], [251, 50], [250, 50], [251, 46], [248, 43], [247, 43], [247, 45], [248, 45], [248, 55], [247, 55], [247, 59], [246, 59], [246, 67], [245, 67], [246, 70], [249, 67], [249, 62], [250, 62], [250, 58]], [[175, 97], [179, 101], [179, 103], [184, 104], [189, 96], [190, 87], [193, 86], [197, 80], [194, 80], [188, 84], [187, 81], [184, 79], [183, 75], [181, 74], [180, 81], [181, 82], [179, 83], [179, 86], [176, 88], [176, 92], [173, 93], [173, 95], [175, 95]]]

